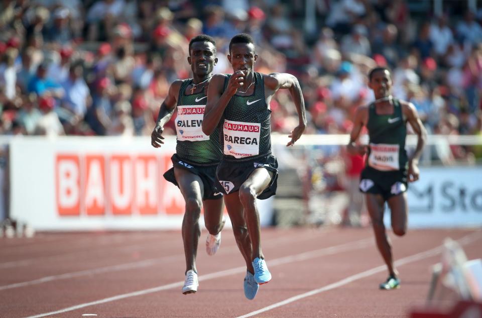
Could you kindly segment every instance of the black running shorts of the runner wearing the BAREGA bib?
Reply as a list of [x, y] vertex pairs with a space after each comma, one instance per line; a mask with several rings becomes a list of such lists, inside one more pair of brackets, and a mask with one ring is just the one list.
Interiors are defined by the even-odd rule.
[[247, 161], [236, 161], [222, 159], [216, 170], [216, 189], [219, 192], [228, 194], [236, 192], [239, 187], [248, 179], [250, 174], [258, 168], [265, 168], [273, 173], [268, 187], [258, 196], [259, 199], [267, 199], [276, 194], [278, 186], [278, 160], [275, 156], [267, 155]]

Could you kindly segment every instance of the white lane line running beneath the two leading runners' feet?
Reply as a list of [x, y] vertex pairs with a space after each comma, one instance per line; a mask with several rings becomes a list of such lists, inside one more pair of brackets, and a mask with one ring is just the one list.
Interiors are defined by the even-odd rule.
[[[345, 244], [341, 244], [341, 245], [337, 245], [337, 246], [322, 248], [322, 249], [311, 251], [311, 252], [305, 252], [305, 253], [300, 253], [300, 254], [297, 254], [297, 255], [272, 259], [272, 260], [269, 260], [269, 263], [270, 263], [270, 266], [273, 267], [273, 266], [277, 266], [277, 265], [281, 265], [281, 264], [285, 264], [285, 263], [307, 260], [307, 259], [310, 259], [310, 258], [316, 258], [316, 257], [324, 256], [324, 255], [331, 255], [331, 254], [338, 253], [340, 251], [345, 252], [345, 251], [350, 251], [350, 250], [362, 249], [362, 248], [369, 247], [369, 246], [372, 246], [372, 245], [374, 245], [374, 239], [373, 238], [367, 238], [367, 239], [349, 242], [349, 243], [345, 243]], [[246, 266], [235, 267], [235, 268], [227, 269], [227, 270], [224, 270], [224, 271], [219, 271], [219, 272], [215, 272], [215, 273], [201, 275], [201, 276], [199, 276], [199, 280], [209, 280], [209, 279], [214, 279], [214, 278], [219, 278], [219, 277], [224, 277], [224, 276], [229, 276], [229, 275], [234, 275], [234, 274], [244, 273], [244, 272], [246, 272]], [[121, 295], [116, 295], [116, 296], [112, 296], [112, 297], [108, 297], [108, 298], [104, 298], [104, 299], [99, 299], [99, 300], [95, 300], [95, 301], [91, 301], [91, 302], [86, 302], [86, 303], [74, 305], [74, 306], [63, 308], [63, 309], [56, 310], [56, 311], [51, 311], [51, 312], [47, 312], [47, 313], [40, 313], [40, 314], [37, 314], [37, 315], [29, 316], [27, 318], [40, 318], [40, 317], [45, 317], [45, 316], [48, 316], [48, 315], [68, 312], [68, 311], [72, 311], [72, 310], [76, 310], [76, 309], [80, 309], [80, 308], [84, 308], [84, 307], [88, 307], [88, 306], [98, 305], [98, 304], [101, 304], [101, 303], [111, 302], [111, 301], [115, 301], [115, 300], [120, 300], [120, 299], [124, 299], [124, 298], [146, 295], [146, 294], [158, 292], [158, 291], [161, 291], [161, 290], [171, 289], [171, 288], [175, 288], [175, 287], [181, 287], [183, 284], [184, 284], [184, 281], [178, 281], [178, 282], [167, 284], [167, 285], [162, 285], [162, 286], [158, 286], [158, 287], [143, 289], [143, 290], [134, 291], [134, 292], [121, 294]]]

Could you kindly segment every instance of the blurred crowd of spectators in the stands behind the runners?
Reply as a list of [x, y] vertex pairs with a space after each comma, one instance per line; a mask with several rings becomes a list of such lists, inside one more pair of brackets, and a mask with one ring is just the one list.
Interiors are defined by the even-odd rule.
[[[480, 135], [482, 15], [461, 3], [449, 18], [416, 16], [406, 0], [316, 0], [310, 33], [304, 2], [4, 0], [0, 133], [150, 135], [170, 83], [190, 76], [189, 40], [215, 37], [215, 72], [229, 73], [227, 44], [246, 32], [257, 71], [300, 80], [307, 133], [349, 132], [354, 109], [374, 98], [366, 74], [382, 65], [429, 133]], [[273, 130], [289, 133], [297, 123], [289, 94], [280, 91], [271, 108]]]

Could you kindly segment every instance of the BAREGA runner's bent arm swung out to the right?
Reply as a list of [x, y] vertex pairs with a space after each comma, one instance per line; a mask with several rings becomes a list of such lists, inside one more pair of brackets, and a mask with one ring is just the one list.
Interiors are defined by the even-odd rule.
[[298, 113], [299, 122], [298, 126], [296, 126], [288, 136], [291, 138], [291, 141], [288, 142], [286, 146], [293, 146], [295, 142], [300, 139], [301, 134], [303, 134], [303, 131], [306, 128], [305, 100], [303, 99], [300, 83], [295, 76], [288, 73], [264, 74], [263, 79], [265, 82], [266, 103], [268, 105], [278, 89], [290, 90], [291, 97], [295, 103], [296, 112]]

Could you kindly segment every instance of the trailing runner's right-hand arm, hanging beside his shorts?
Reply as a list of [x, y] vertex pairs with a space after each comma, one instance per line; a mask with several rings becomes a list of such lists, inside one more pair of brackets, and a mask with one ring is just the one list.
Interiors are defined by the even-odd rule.
[[409, 158], [408, 162], [408, 177], [409, 181], [417, 181], [420, 175], [420, 170], [418, 169], [418, 159], [422, 154], [423, 147], [427, 140], [427, 131], [418, 116], [415, 106], [411, 102], [401, 101], [403, 115], [407, 119], [407, 122], [412, 126], [413, 131], [417, 134], [417, 146], [415, 151]]

